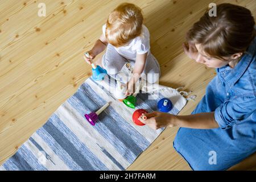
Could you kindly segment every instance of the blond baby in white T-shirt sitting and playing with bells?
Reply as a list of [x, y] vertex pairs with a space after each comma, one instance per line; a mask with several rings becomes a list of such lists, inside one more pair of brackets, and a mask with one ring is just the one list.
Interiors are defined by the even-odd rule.
[[[94, 64], [100, 65], [115, 78], [127, 63], [133, 67], [133, 76], [127, 80], [126, 95], [134, 93], [140, 77], [151, 84], [159, 80], [160, 67], [150, 52], [150, 33], [143, 24], [142, 10], [131, 3], [122, 3], [110, 13], [102, 26], [102, 35], [88, 51], [90, 59], [106, 49]], [[88, 64], [90, 59], [84, 56]], [[144, 76], [144, 77], [143, 77]]]

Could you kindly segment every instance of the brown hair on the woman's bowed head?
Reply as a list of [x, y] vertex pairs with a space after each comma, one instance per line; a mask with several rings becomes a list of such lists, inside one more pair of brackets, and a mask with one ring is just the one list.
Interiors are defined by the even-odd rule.
[[205, 53], [217, 59], [245, 52], [255, 38], [255, 22], [250, 10], [223, 3], [217, 5], [217, 16], [208, 11], [193, 24], [187, 41], [200, 44]]

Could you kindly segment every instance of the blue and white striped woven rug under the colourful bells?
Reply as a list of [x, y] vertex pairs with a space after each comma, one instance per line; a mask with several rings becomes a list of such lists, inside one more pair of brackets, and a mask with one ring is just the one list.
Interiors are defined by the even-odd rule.
[[[106, 89], [107, 84], [88, 78], [0, 170], [125, 170], [163, 131], [134, 125], [135, 109], [157, 110], [158, 101], [167, 97], [174, 104], [170, 113], [177, 114], [187, 102], [175, 89], [147, 86], [148, 93], [138, 93], [137, 107], [131, 109], [113, 97], [113, 85]], [[90, 125], [84, 114], [106, 102], [110, 106]]]

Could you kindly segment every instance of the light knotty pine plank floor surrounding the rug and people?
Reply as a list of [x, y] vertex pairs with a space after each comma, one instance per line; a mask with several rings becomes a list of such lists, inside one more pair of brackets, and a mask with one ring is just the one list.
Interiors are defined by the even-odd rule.
[[[46, 3], [46, 17], [38, 16], [39, 2]], [[0, 0], [0, 164], [90, 76], [82, 54], [92, 48], [110, 10], [121, 2]], [[143, 9], [151, 52], [161, 66], [160, 84], [184, 86], [197, 95], [180, 114], [191, 113], [216, 75], [184, 55], [185, 32], [210, 2], [246, 6], [256, 16], [255, 0], [126, 2]], [[176, 131], [166, 129], [128, 169], [190, 170], [172, 147]]]

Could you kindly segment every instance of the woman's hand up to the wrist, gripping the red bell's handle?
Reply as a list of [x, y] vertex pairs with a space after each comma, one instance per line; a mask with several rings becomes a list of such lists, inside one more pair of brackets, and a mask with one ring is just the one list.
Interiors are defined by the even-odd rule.
[[152, 113], [142, 115], [145, 115], [147, 119], [143, 120], [142, 117], [140, 117], [139, 121], [148, 125], [154, 130], [160, 129], [161, 127], [176, 126], [176, 118], [175, 115], [172, 114], [154, 111]]

